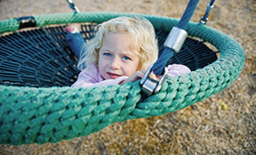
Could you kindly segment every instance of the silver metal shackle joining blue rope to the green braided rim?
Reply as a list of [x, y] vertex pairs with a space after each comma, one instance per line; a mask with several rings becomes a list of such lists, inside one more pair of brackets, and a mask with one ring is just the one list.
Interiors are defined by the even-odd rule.
[[162, 85], [165, 82], [165, 79], [167, 78], [168, 75], [168, 68], [165, 67], [165, 72], [162, 76], [162, 78], [160, 78], [159, 80], [155, 80], [152, 78], [149, 78], [149, 75], [151, 73], [151, 69], [153, 67], [154, 64], [152, 64], [145, 72], [144, 78], [141, 79], [141, 85], [142, 85], [142, 89], [143, 92], [147, 95], [147, 96], [151, 96], [153, 94], [158, 93], [161, 88]]

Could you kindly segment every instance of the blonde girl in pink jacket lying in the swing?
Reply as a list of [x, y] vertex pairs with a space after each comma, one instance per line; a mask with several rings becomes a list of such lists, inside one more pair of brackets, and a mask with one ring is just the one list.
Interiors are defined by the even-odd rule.
[[[82, 36], [67, 36], [69, 47], [73, 46], [71, 49], [80, 57], [78, 67], [82, 70], [71, 87], [110, 86], [143, 78], [146, 69], [158, 56], [152, 24], [143, 17], [117, 17], [97, 26], [97, 29], [95, 36], [82, 46], [80, 56], [81, 43], [77, 40]], [[79, 32], [76, 26], [69, 26], [66, 30], [74, 34]], [[190, 72], [183, 65], [171, 65], [168, 70], [168, 77]], [[156, 79], [154, 74], [151, 78]]]

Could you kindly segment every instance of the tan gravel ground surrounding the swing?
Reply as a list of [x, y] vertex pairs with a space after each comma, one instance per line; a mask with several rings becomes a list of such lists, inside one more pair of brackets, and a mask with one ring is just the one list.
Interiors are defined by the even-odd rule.
[[[73, 0], [80, 11], [114, 11], [180, 18], [188, 0]], [[204, 14], [201, 0], [192, 21]], [[0, 20], [72, 12], [66, 0], [0, 0]], [[229, 88], [187, 109], [117, 122], [100, 132], [44, 145], [2, 145], [0, 154], [255, 154], [256, 1], [217, 0], [208, 26], [235, 38], [246, 62]], [[223, 103], [228, 109], [223, 109]]]

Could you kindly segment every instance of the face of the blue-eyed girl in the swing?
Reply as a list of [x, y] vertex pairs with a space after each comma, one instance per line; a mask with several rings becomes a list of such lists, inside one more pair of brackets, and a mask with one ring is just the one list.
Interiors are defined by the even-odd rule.
[[[123, 33], [105, 36], [99, 54], [99, 70], [104, 79], [130, 77], [138, 69], [138, 51], [132, 50], [133, 39]], [[137, 49], [139, 50], [139, 47]], [[135, 53], [136, 52], [136, 53]]]

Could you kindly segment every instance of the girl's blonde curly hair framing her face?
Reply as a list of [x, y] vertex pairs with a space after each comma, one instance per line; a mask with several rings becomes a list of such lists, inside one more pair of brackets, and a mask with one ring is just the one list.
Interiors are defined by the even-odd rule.
[[96, 26], [95, 36], [81, 48], [78, 68], [83, 70], [95, 64], [98, 67], [99, 52], [105, 36], [111, 33], [127, 33], [133, 38], [133, 47], [139, 47], [138, 70], [147, 69], [158, 57], [155, 29], [144, 17], [117, 17]]

